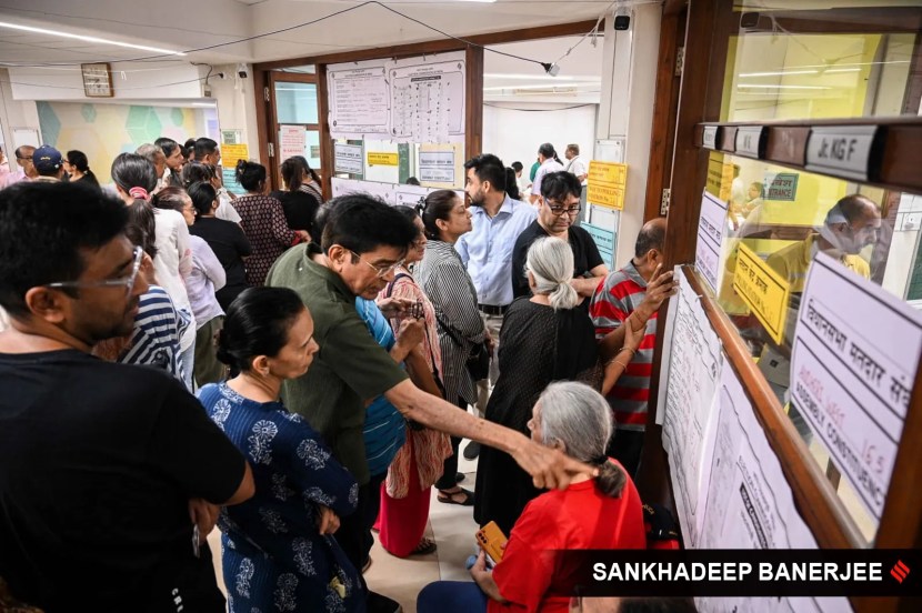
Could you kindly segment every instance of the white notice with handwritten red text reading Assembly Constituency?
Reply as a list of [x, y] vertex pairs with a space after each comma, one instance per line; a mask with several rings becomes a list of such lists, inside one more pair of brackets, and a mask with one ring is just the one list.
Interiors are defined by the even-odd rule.
[[792, 402], [878, 520], [922, 356], [922, 313], [820, 253], [791, 358]]

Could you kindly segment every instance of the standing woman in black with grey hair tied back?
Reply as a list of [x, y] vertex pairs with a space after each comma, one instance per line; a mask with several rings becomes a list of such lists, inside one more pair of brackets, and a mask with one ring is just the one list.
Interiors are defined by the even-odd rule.
[[[555, 238], [542, 238], [528, 251], [525, 271], [531, 297], [509, 306], [500, 331], [500, 376], [487, 404], [489, 421], [528, 434], [534, 401], [552, 381], [581, 380], [608, 392], [624, 372], [641, 341], [633, 329], [624, 349], [605, 365], [599, 360], [595, 329], [570, 284], [573, 250]], [[474, 489], [474, 520], [495, 521], [509, 534], [525, 504], [541, 493], [531, 476], [507, 453], [481, 449]]]

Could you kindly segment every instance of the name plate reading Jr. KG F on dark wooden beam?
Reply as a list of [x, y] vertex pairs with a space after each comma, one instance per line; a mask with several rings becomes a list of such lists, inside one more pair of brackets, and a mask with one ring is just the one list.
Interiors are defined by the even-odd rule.
[[871, 179], [871, 164], [876, 167], [879, 162], [874, 147], [879, 133], [878, 125], [812, 128], [806, 141], [804, 168], [844, 179], [868, 181]]

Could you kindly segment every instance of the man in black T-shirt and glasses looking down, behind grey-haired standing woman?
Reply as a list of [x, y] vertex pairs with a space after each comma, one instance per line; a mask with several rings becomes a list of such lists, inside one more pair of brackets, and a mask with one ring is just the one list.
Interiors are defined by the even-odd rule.
[[[580, 217], [579, 179], [570, 172], [550, 172], [541, 181], [541, 195], [538, 198], [538, 219], [519, 235], [512, 250], [512, 291], [515, 298], [529, 295], [529, 281], [525, 277], [525, 260], [531, 243], [541, 237], [554, 237], [570, 243], [573, 251], [573, 280], [570, 282], [577, 292], [592, 298], [609, 273], [595, 241], [584, 229], [573, 225]], [[589, 312], [589, 300], [583, 300], [582, 309]]]

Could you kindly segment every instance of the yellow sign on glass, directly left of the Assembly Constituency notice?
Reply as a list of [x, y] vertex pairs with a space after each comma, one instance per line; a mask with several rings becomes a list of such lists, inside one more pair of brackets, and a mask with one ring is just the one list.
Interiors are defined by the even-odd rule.
[[774, 342], [781, 344], [791, 297], [788, 280], [772, 270], [754, 251], [740, 243], [733, 289], [752, 309]]

